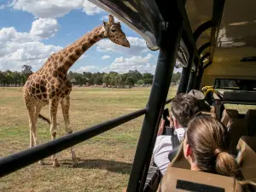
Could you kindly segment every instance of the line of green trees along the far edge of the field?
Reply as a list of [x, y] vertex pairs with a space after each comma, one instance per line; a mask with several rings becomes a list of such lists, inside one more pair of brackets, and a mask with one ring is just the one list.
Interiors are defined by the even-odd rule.
[[[26, 79], [32, 74], [32, 67], [24, 65], [20, 72], [7, 70], [0, 71], [0, 86], [21, 86], [26, 83]], [[133, 86], [134, 84], [152, 84], [154, 75], [151, 73], [140, 73], [137, 70], [130, 70], [128, 73], [119, 74], [116, 72], [109, 73], [75, 73], [69, 71], [68, 78], [73, 84], [92, 85], [105, 84], [106, 86], [122, 87], [125, 85]], [[177, 84], [181, 73], [173, 73], [172, 84]]]

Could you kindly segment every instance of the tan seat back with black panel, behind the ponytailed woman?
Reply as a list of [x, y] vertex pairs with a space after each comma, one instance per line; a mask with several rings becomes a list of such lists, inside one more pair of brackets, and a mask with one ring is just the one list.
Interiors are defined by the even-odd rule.
[[233, 177], [168, 166], [158, 189], [158, 192], [167, 191], [240, 192], [242, 188]]

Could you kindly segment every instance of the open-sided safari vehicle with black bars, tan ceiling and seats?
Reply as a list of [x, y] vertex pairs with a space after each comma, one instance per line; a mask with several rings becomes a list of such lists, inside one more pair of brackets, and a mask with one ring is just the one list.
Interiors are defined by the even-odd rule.
[[[230, 125], [232, 145], [240, 148], [245, 179], [256, 181], [256, 110], [245, 115], [224, 110], [225, 104], [255, 105], [256, 1], [255, 0], [90, 0], [140, 34], [148, 49], [160, 50], [147, 106], [55, 141], [0, 159], [0, 176], [28, 166], [131, 119], [144, 116], [137, 143], [128, 192], [143, 191], [161, 113], [167, 103], [174, 67], [183, 67], [177, 93], [201, 90], [206, 85], [222, 86], [235, 79], [222, 98], [213, 94], [212, 113]], [[251, 80], [251, 81], [247, 81]], [[233, 80], [232, 80], [233, 81]], [[242, 82], [241, 84], [239, 82]], [[247, 91], [247, 82], [253, 84]], [[238, 90], [235, 90], [238, 87]], [[248, 87], [248, 86], [247, 86]], [[212, 89], [212, 90], [214, 90]], [[244, 90], [245, 89], [245, 90]], [[238, 91], [238, 92], [237, 92]], [[242, 95], [243, 94], [243, 95]], [[212, 99], [212, 97], [211, 97]], [[238, 144], [237, 144], [238, 143]], [[172, 160], [170, 191], [240, 191], [234, 178], [191, 172], [182, 154]]]

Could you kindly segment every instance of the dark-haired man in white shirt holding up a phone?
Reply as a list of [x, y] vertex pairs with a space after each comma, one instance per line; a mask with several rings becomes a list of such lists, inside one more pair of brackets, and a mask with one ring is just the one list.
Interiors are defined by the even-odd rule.
[[[175, 96], [171, 104], [171, 116], [169, 118], [170, 122], [174, 128], [174, 134], [177, 134], [178, 140], [181, 142], [186, 131], [186, 127], [190, 119], [193, 119], [196, 113], [201, 111], [199, 102], [194, 96], [189, 96], [188, 94], [179, 94]], [[156, 166], [160, 169], [162, 174], [165, 174], [166, 168], [170, 163], [168, 159], [168, 154], [172, 151], [172, 136], [162, 135], [164, 130], [165, 120], [160, 122], [160, 129], [158, 132], [158, 137], [154, 144], [154, 151], [152, 155], [151, 162], [154, 162]], [[168, 128], [166, 128], [168, 129]]]

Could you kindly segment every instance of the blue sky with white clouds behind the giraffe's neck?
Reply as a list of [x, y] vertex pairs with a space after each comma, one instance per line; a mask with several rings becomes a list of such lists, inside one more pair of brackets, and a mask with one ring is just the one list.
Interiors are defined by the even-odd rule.
[[[102, 25], [102, 20], [108, 20], [108, 13], [87, 0], [0, 0], [0, 70], [20, 71], [27, 64], [36, 71], [50, 54]], [[130, 49], [101, 40], [71, 70], [154, 73], [159, 51], [149, 50], [142, 37], [121, 25]]]

